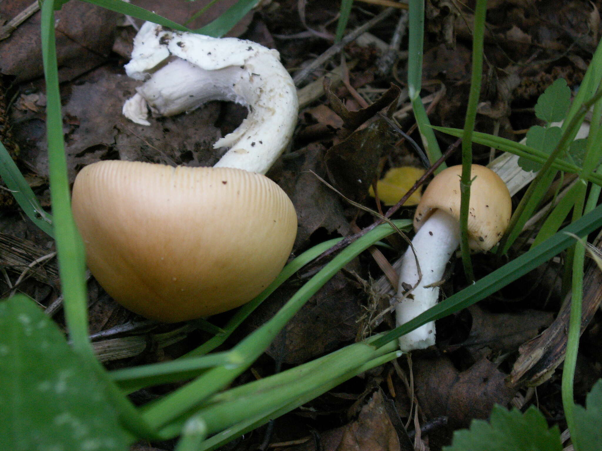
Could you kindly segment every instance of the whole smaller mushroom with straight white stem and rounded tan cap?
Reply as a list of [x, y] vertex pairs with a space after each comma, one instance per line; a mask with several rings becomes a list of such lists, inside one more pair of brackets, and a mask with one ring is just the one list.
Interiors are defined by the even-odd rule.
[[[416, 235], [406, 250], [399, 275], [399, 293], [414, 290], [396, 306], [397, 325], [405, 324], [433, 307], [439, 299], [439, 287], [445, 266], [460, 242], [461, 166], [441, 171], [429, 183], [414, 215]], [[472, 165], [468, 233], [470, 247], [488, 251], [500, 240], [512, 213], [510, 193], [494, 171]], [[416, 259], [420, 264], [419, 275]], [[435, 322], [431, 321], [400, 337], [404, 352], [435, 344]]]

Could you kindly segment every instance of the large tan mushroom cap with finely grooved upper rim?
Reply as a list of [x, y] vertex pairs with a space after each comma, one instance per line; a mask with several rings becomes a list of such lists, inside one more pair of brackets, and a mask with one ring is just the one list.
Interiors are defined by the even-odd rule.
[[73, 185], [88, 267], [129, 310], [164, 322], [238, 307], [279, 274], [297, 215], [265, 176], [102, 161]]

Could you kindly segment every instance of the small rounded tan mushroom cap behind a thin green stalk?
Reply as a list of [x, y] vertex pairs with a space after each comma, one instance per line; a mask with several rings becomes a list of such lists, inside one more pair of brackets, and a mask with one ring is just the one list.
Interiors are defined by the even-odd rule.
[[[429, 183], [414, 214], [414, 229], [420, 229], [436, 209], [443, 210], [459, 221], [461, 174], [461, 165], [452, 166], [441, 171]], [[508, 227], [512, 200], [506, 184], [491, 169], [473, 164], [470, 178], [474, 179], [468, 213], [470, 247], [488, 251], [500, 241]]]

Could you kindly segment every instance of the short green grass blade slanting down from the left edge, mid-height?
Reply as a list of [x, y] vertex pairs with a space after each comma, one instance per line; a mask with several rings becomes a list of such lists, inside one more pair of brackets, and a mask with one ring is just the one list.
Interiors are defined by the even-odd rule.
[[0, 178], [4, 180], [7, 188], [12, 191], [14, 200], [17, 201], [27, 217], [43, 232], [54, 238], [52, 216], [44, 211], [37, 200], [36, 194], [34, 194], [2, 143], [0, 143]]

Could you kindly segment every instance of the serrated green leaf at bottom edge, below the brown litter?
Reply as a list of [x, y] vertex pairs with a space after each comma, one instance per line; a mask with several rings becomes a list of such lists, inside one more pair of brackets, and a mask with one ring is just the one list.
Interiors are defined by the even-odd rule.
[[496, 405], [491, 420], [473, 420], [470, 429], [456, 431], [444, 451], [562, 451], [557, 426], [548, 429], [535, 407], [524, 414]]

